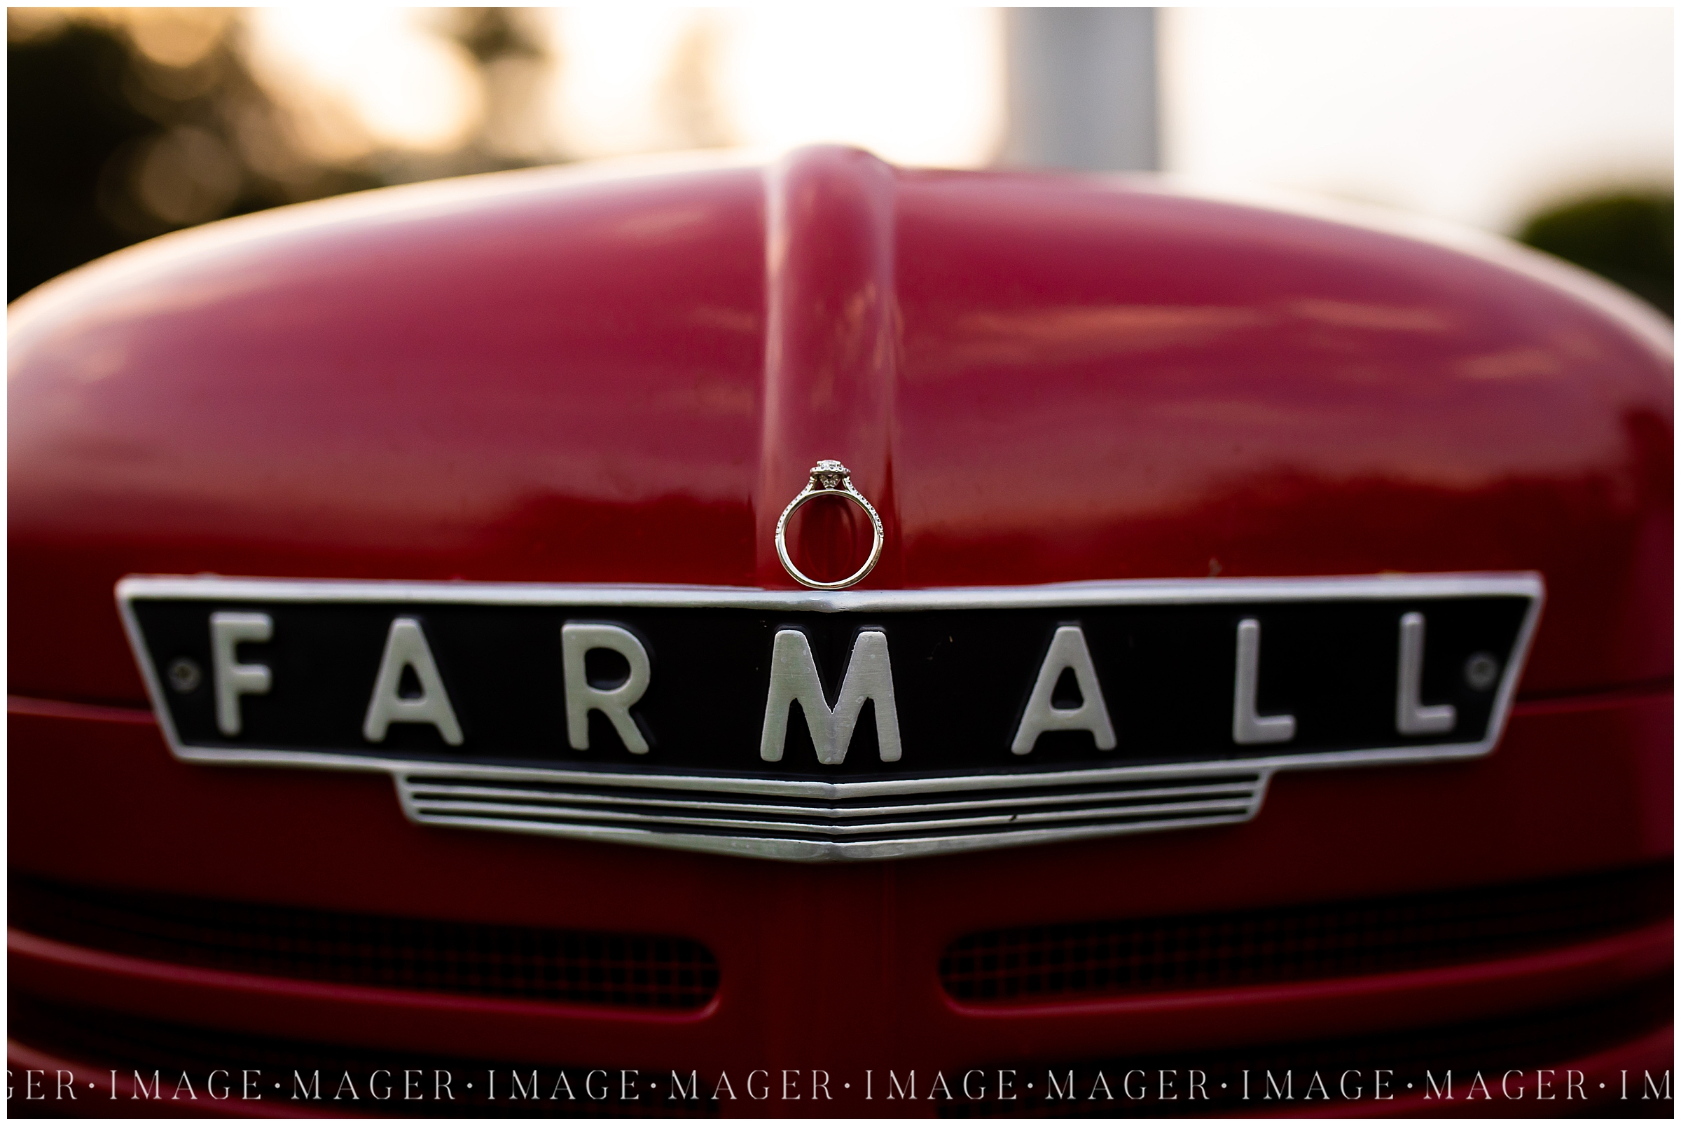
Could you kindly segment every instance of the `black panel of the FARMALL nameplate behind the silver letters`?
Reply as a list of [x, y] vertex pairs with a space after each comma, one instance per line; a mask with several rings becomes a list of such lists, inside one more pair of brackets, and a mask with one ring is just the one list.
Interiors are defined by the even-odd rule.
[[[393, 597], [397, 595], [397, 597]], [[244, 751], [434, 763], [555, 766], [612, 773], [704, 773], [862, 781], [928, 775], [1066, 771], [1266, 756], [1346, 756], [1466, 748], [1496, 738], [1540, 600], [1533, 576], [1113, 583], [987, 592], [760, 593], [471, 583], [308, 583], [131, 578], [119, 588], [155, 704], [177, 753]], [[568, 602], [568, 597], [572, 598]], [[1020, 605], [1012, 605], [1012, 600]], [[691, 605], [677, 605], [691, 603]], [[219, 728], [212, 615], [266, 615], [269, 640], [234, 659], [267, 669], [267, 691], [237, 696], [239, 729]], [[1415, 699], [1452, 708], [1451, 726], [1402, 733], [1402, 622], [1422, 618]], [[365, 724], [392, 624], [419, 624], [459, 724]], [[1293, 716], [1283, 741], [1239, 743], [1239, 629], [1259, 627], [1254, 714]], [[630, 708], [649, 741], [632, 755], [609, 716], [588, 711], [588, 750], [568, 738], [561, 629], [609, 624], [647, 654]], [[1059, 627], [1089, 650], [1115, 748], [1089, 729], [1044, 731], [1012, 753]], [[846, 758], [824, 765], [793, 704], [778, 761], [761, 756], [772, 652], [782, 630], [810, 645], [835, 704], [861, 632], [891, 659], [903, 753], [883, 761], [876, 708], [862, 706]], [[225, 676], [227, 657], [224, 657]], [[627, 660], [588, 652], [595, 687]], [[197, 671], [197, 677], [193, 672]], [[1083, 702], [1059, 677], [1054, 706]], [[403, 671], [400, 697], [422, 691]], [[1441, 713], [1437, 713], [1441, 714]]]

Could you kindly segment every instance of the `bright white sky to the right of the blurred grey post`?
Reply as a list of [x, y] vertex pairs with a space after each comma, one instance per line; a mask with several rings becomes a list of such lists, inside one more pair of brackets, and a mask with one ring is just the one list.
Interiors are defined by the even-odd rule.
[[1173, 8], [1167, 166], [1513, 232], [1671, 183], [1671, 8]]

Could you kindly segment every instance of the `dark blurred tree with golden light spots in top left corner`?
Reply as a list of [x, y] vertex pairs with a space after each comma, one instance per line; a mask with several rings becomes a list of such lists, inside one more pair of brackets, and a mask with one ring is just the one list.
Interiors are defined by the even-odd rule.
[[227, 12], [7, 13], [7, 301], [195, 224], [380, 182], [289, 151]]

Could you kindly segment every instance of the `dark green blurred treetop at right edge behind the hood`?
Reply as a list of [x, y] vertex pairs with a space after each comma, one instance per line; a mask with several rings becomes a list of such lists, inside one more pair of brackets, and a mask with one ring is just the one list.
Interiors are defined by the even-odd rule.
[[1609, 277], [1673, 318], [1674, 222], [1673, 192], [1622, 192], [1541, 212], [1518, 239]]

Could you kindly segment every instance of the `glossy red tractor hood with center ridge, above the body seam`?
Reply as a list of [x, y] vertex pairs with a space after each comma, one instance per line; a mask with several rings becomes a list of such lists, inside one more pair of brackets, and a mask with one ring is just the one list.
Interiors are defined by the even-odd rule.
[[1668, 324], [1153, 182], [538, 170], [284, 208], [10, 318], [12, 692], [145, 699], [129, 573], [864, 588], [1540, 571], [1528, 696], [1671, 671]]

